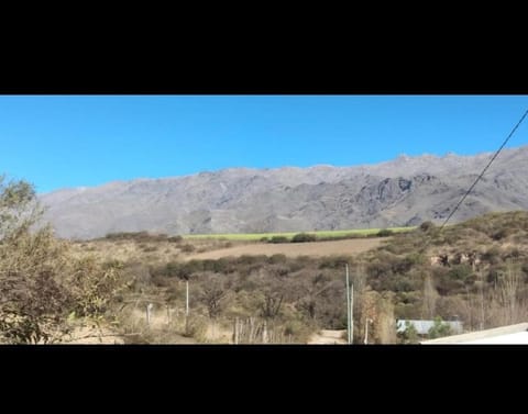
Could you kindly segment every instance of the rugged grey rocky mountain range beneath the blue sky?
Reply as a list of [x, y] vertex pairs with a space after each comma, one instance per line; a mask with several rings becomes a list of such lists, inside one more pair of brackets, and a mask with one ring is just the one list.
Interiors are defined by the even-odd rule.
[[[229, 168], [40, 194], [64, 238], [108, 233], [301, 232], [441, 223], [490, 161], [402, 155], [376, 165]], [[504, 149], [452, 217], [528, 209], [528, 146]]]

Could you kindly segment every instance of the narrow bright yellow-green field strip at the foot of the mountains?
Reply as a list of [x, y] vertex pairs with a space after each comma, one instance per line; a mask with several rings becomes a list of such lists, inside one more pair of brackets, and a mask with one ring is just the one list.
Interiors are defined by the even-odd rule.
[[[410, 232], [416, 227], [389, 227], [394, 233]], [[267, 237], [286, 237], [290, 239], [293, 236], [299, 233], [314, 234], [318, 239], [330, 239], [330, 238], [350, 238], [369, 236], [378, 233], [384, 228], [359, 228], [359, 230], [337, 230], [337, 231], [321, 231], [321, 232], [287, 232], [287, 233], [233, 233], [233, 234], [189, 234], [183, 236], [188, 239], [200, 239], [200, 238], [213, 238], [213, 239], [227, 239], [227, 240], [245, 240], [245, 242], [255, 242], [261, 238]]]

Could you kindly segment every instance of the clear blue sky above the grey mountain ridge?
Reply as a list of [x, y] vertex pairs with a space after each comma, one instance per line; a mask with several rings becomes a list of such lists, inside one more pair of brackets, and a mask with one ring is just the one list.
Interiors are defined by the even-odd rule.
[[[230, 167], [497, 149], [527, 96], [1, 96], [0, 174], [38, 192]], [[528, 120], [508, 147], [528, 144]]]

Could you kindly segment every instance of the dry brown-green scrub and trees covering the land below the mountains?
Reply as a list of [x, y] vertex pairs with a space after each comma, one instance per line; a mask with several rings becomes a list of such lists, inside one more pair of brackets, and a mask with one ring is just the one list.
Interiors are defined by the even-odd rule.
[[[316, 256], [302, 249], [317, 242], [276, 245], [295, 245], [297, 255], [288, 257], [258, 254], [258, 246], [272, 246], [265, 242], [145, 232], [61, 240], [50, 227], [35, 230], [41, 213], [34, 201], [31, 186], [0, 181], [4, 343], [69, 342], [88, 325], [125, 343], [306, 343], [321, 329], [345, 328], [345, 264], [354, 286], [355, 343], [367, 321], [369, 342], [385, 344], [417, 340], [396, 336], [396, 318], [458, 318], [476, 329], [528, 315], [525, 211], [441, 231], [425, 222], [366, 251]], [[245, 245], [255, 254], [195, 256]]]

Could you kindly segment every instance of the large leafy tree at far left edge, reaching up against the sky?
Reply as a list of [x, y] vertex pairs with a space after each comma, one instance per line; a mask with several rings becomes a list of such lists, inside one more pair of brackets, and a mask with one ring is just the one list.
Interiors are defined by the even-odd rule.
[[42, 211], [32, 184], [0, 177], [0, 342], [59, 342], [68, 315], [102, 316], [123, 286], [114, 264], [74, 258]]

